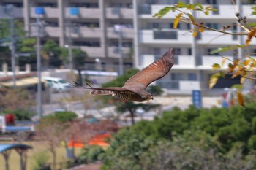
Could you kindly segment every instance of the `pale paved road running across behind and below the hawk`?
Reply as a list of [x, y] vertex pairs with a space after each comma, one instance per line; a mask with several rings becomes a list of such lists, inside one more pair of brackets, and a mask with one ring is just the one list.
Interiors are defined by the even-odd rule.
[[[117, 115], [115, 111], [115, 107], [106, 107], [103, 109], [97, 109], [97, 104], [95, 102], [91, 102], [89, 109], [84, 109], [86, 104], [83, 104], [83, 101], [69, 101], [67, 103], [58, 102], [58, 100], [67, 98], [69, 93], [53, 93], [52, 94], [52, 103], [43, 105], [43, 115], [49, 115], [55, 112], [56, 109], [66, 109], [72, 112], [76, 112], [78, 117], [84, 117], [85, 115], [92, 115], [96, 118], [102, 119], [106, 117], [114, 117]], [[220, 98], [217, 97], [204, 97], [203, 98], [203, 107], [213, 107], [217, 106], [217, 100]], [[93, 100], [93, 98], [91, 98]], [[171, 110], [173, 107], [180, 107], [181, 109], [186, 109], [192, 104], [191, 97], [154, 97], [153, 101], [149, 101], [152, 104], [161, 104], [162, 107], [159, 110], [151, 110], [150, 112], [144, 113], [141, 110], [138, 110], [138, 117], [136, 120], [146, 119], [152, 120], [154, 116], [159, 115], [162, 111]], [[125, 120], [129, 122], [129, 113], [125, 113], [119, 117], [121, 120]], [[129, 124], [129, 123], [128, 123]]]

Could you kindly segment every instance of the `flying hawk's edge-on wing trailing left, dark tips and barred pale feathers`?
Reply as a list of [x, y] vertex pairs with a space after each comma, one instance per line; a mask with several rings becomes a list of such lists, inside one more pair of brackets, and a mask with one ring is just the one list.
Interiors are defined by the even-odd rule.
[[[86, 86], [87, 85], [87, 86]], [[113, 87], [113, 88], [94, 88], [91, 85], [78, 85], [78, 82], [73, 82], [71, 84], [72, 88], [83, 88], [83, 89], [89, 89], [91, 90], [91, 94], [94, 95], [114, 95], [115, 92], [126, 92], [126, 93], [133, 93], [130, 90], [127, 90], [126, 88], [119, 88], [119, 87]]]

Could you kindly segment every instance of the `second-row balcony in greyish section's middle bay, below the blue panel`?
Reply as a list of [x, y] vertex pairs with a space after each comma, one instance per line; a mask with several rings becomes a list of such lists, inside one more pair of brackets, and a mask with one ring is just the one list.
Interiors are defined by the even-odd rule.
[[[100, 38], [103, 36], [102, 28], [88, 28], [81, 26], [73, 26], [70, 28], [72, 38]], [[67, 36], [69, 35], [69, 28], [67, 29]]]

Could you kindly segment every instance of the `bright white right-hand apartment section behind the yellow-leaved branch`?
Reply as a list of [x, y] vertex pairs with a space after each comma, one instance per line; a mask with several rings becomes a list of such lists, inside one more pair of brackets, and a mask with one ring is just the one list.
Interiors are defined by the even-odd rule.
[[[168, 4], [176, 4], [176, 0], [135, 0], [134, 20], [135, 26], [135, 66], [143, 68], [149, 63], [155, 61], [164, 54], [169, 47], [176, 49], [176, 61], [173, 69], [167, 76], [157, 81], [158, 85], [169, 89], [172, 93], [191, 93], [192, 90], [202, 90], [203, 93], [223, 93], [223, 88], [238, 84], [239, 80], [230, 79], [227, 75], [226, 80], [219, 80], [213, 90], [208, 90], [208, 80], [212, 73], [211, 65], [221, 63], [222, 56], [231, 60], [240, 58], [233, 52], [225, 52], [211, 55], [209, 51], [218, 47], [226, 47], [230, 45], [239, 45], [245, 43], [246, 37], [238, 37], [232, 35], [219, 34], [213, 31], [205, 31], [197, 34], [194, 38], [192, 25], [180, 23], [178, 29], [173, 29], [173, 19], [178, 12], [169, 12], [164, 18], [152, 18], [160, 9], [168, 6]], [[222, 29], [222, 26], [236, 24], [236, 12], [246, 16], [250, 22], [256, 21], [256, 16], [252, 16], [253, 4], [248, 4], [246, 0], [236, 1], [238, 6], [232, 4], [230, 0], [185, 0], [184, 2], [195, 4], [203, 4], [204, 7], [209, 4], [216, 8], [217, 11], [210, 12], [208, 16], [202, 12], [195, 12], [196, 20], [206, 26]], [[237, 26], [233, 26], [229, 31], [240, 31]], [[252, 40], [249, 47], [245, 48], [242, 55], [255, 55], [256, 41]], [[228, 63], [228, 61], [227, 61]], [[225, 64], [227, 66], [227, 63]], [[246, 81], [246, 88], [254, 85], [252, 81]]]

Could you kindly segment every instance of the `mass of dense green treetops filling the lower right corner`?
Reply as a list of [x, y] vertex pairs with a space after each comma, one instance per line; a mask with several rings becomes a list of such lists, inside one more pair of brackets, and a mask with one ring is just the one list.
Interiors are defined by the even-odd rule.
[[176, 107], [114, 135], [102, 169], [255, 169], [255, 117], [255, 103]]

